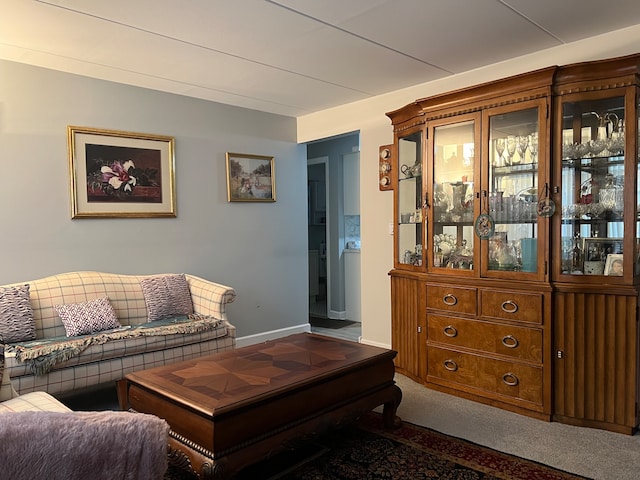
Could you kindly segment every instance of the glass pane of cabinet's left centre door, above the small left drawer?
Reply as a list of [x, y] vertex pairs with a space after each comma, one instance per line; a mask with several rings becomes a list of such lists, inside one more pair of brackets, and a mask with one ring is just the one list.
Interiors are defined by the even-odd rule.
[[433, 268], [473, 272], [478, 118], [433, 128]]

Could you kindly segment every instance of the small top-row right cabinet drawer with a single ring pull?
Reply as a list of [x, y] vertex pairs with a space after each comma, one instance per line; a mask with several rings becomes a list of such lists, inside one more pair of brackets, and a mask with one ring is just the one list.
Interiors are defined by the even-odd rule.
[[482, 290], [481, 315], [529, 323], [542, 323], [542, 294]]

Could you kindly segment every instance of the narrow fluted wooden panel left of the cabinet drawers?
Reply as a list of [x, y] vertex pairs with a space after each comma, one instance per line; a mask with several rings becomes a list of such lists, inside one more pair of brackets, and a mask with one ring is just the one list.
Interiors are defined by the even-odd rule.
[[396, 369], [422, 382], [420, 350], [424, 333], [419, 333], [418, 327], [424, 322], [424, 312], [420, 307], [420, 285], [413, 278], [391, 276], [391, 345], [398, 352]]

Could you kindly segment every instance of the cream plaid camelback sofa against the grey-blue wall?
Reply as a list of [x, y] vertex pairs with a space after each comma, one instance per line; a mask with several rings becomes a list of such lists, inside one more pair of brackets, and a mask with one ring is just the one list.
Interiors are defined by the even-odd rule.
[[[150, 323], [140, 281], [157, 276], [160, 275], [70, 272], [2, 287], [29, 285], [36, 331], [36, 342], [32, 343], [65, 342], [69, 339], [55, 305], [107, 296], [123, 328], [143, 329]], [[0, 353], [4, 352], [4, 374], [10, 376], [20, 395], [34, 391], [64, 395], [120, 380], [136, 370], [233, 349], [236, 330], [228, 321], [226, 305], [234, 301], [235, 290], [193, 275], [187, 274], [185, 278], [195, 316], [216, 319], [214, 327], [162, 334], [163, 325], [171, 328], [171, 324], [165, 322], [154, 328], [159, 334], [132, 335], [90, 344], [81, 353], [55, 363], [47, 373], [34, 373], [32, 364], [19, 361], [20, 355], [16, 354], [19, 344], [0, 345]]]

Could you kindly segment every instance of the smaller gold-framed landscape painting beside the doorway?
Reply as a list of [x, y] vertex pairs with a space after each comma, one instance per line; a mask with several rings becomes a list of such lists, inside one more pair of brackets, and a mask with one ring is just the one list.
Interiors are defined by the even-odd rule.
[[275, 202], [274, 157], [227, 152], [227, 200]]

